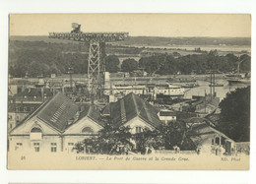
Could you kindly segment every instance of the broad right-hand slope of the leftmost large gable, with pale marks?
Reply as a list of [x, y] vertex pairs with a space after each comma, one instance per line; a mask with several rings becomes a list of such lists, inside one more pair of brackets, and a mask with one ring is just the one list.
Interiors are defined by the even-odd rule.
[[79, 106], [59, 92], [37, 113], [37, 118], [62, 132], [78, 111]]

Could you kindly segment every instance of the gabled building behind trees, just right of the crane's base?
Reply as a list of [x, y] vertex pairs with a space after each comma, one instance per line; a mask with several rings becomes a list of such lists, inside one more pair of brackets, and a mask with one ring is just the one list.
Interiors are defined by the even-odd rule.
[[115, 126], [129, 126], [133, 134], [160, 126], [158, 113], [153, 105], [133, 92], [109, 103], [103, 110], [103, 115], [108, 115]]

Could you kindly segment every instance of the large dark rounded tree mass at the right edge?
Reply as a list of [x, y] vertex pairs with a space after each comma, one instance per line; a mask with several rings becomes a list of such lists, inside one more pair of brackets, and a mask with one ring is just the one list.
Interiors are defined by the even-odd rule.
[[250, 87], [227, 93], [220, 107], [219, 129], [236, 142], [250, 141]]

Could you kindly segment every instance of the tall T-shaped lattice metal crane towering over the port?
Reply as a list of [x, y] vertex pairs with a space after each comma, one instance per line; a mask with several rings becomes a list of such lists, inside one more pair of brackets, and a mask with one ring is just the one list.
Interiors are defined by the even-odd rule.
[[94, 97], [99, 98], [104, 86], [104, 55], [105, 42], [123, 40], [128, 32], [83, 32], [81, 25], [72, 23], [71, 32], [49, 32], [49, 38], [67, 39], [81, 42], [89, 42], [88, 58], [88, 91], [92, 101]]

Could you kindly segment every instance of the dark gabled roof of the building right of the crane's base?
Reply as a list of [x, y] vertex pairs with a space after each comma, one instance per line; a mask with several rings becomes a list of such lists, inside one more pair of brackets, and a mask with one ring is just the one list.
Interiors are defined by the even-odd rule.
[[158, 112], [154, 106], [133, 92], [110, 103], [110, 117], [116, 126], [122, 126], [138, 116], [156, 128], [161, 124]]

